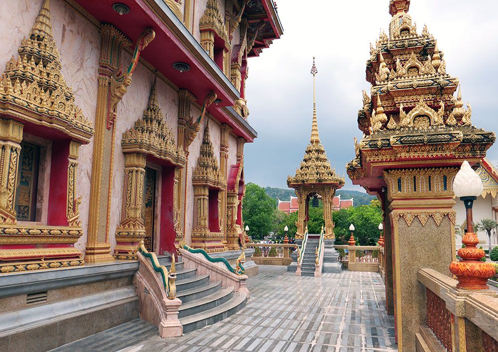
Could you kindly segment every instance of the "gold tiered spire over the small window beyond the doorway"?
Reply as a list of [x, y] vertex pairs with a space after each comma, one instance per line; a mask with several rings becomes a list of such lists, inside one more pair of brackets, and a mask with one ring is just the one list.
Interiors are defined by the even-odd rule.
[[213, 143], [209, 136], [209, 120], [206, 120], [201, 152], [197, 159], [197, 166], [192, 174], [192, 183], [194, 185], [209, 186], [216, 189], [224, 189], [227, 187], [227, 181], [223, 179], [223, 176], [220, 173]]

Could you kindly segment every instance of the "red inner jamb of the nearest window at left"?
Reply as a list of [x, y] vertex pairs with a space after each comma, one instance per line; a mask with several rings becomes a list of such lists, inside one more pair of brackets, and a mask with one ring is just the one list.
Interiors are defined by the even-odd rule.
[[52, 142], [47, 216], [47, 225], [49, 226], [68, 226], [67, 174], [69, 166], [69, 143], [69, 140]]

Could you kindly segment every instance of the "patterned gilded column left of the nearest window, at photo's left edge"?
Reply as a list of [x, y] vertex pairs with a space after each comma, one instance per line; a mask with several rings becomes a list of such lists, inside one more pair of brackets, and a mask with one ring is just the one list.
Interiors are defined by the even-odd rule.
[[17, 166], [21, 152], [22, 129], [20, 122], [0, 118], [0, 224], [15, 224], [15, 188]]

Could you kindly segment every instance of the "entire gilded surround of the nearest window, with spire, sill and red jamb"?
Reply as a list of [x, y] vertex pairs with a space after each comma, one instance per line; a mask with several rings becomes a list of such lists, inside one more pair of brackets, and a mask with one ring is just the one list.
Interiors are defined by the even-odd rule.
[[[76, 195], [79, 147], [94, 134], [61, 73], [49, 2], [0, 80], [0, 271], [82, 265], [74, 243], [82, 235]], [[23, 132], [53, 140], [46, 224], [18, 224], [14, 209]], [[64, 187], [64, 185], [66, 185]], [[61, 187], [62, 186], [62, 187]]]

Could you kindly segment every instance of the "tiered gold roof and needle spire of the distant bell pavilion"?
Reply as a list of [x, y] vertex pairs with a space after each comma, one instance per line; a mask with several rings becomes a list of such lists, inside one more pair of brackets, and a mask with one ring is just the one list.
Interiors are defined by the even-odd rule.
[[339, 184], [344, 185], [344, 178], [336, 175], [332, 170], [330, 162], [327, 159], [325, 148], [320, 142], [318, 134], [318, 122], [316, 116], [316, 90], [315, 90], [315, 75], [318, 70], [315, 65], [315, 57], [313, 57], [313, 66], [311, 74], [313, 75], [313, 118], [311, 122], [311, 138], [310, 143], [306, 147], [303, 161], [300, 167], [296, 170], [294, 177], [287, 178], [287, 185], [317, 183], [317, 184]]

